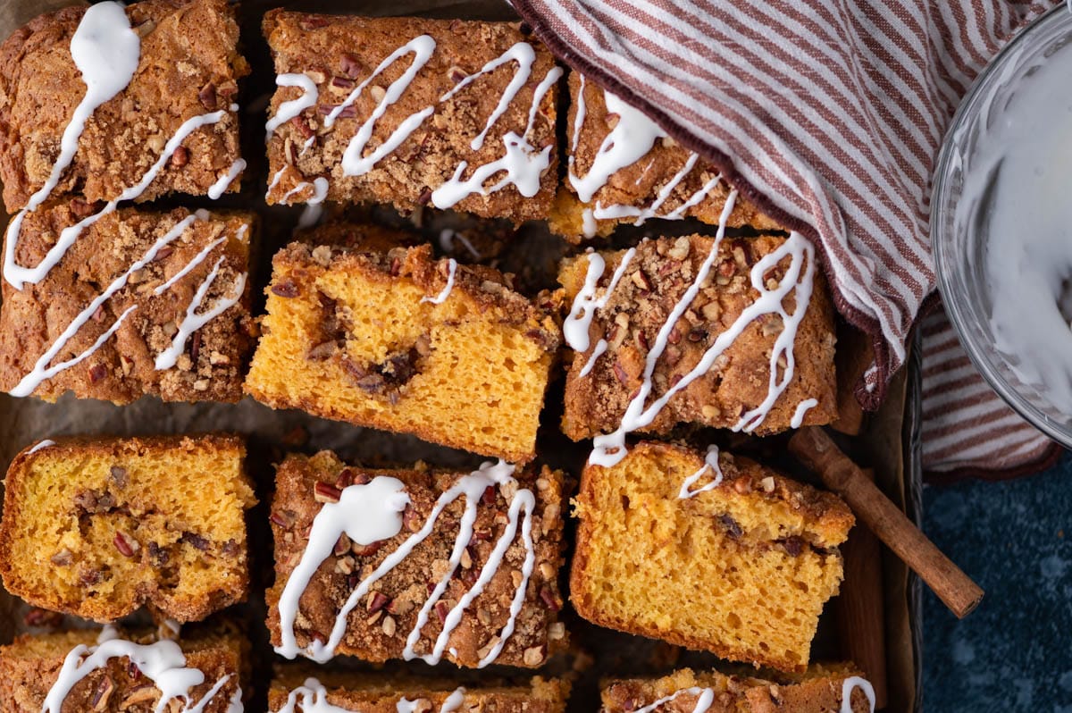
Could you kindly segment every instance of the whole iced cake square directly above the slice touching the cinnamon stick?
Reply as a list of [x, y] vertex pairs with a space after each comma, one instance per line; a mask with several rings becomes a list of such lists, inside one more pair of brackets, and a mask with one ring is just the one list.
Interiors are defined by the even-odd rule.
[[563, 431], [598, 448], [689, 422], [769, 434], [837, 415], [834, 312], [810, 243], [644, 240], [567, 259]]

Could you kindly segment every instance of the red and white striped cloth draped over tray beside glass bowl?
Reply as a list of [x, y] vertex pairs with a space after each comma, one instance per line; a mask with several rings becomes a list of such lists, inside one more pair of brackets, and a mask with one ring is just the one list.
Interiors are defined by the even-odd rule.
[[[927, 223], [946, 128], [987, 60], [1054, 2], [511, 1], [566, 64], [821, 248], [839, 311], [875, 341], [858, 396], [876, 405], [935, 293]], [[927, 393], [941, 365], [959, 363], [942, 354], [926, 356]], [[929, 401], [928, 469], [1014, 469], [1037, 455], [996, 396], [965, 388]], [[982, 449], [983, 436], [1008, 450]]]

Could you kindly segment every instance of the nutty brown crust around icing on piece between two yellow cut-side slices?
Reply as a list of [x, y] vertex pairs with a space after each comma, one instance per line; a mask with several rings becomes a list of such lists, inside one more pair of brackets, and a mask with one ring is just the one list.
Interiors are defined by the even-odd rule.
[[[268, 629], [271, 641], [282, 642], [280, 599], [287, 581], [301, 561], [309, 545], [303, 533], [313, 526], [322, 509], [323, 495], [377, 477], [400, 480], [410, 504], [402, 516], [403, 526], [393, 537], [372, 546], [345, 543], [316, 569], [299, 599], [295, 637], [304, 649], [314, 637], [328, 640], [343, 604], [364, 577], [376, 570], [400, 546], [427, 526], [427, 522], [443, 493], [456, 486], [462, 473], [430, 471], [425, 466], [410, 471], [375, 471], [346, 466], [333, 454], [324, 451], [312, 458], [289, 456], [277, 469], [276, 496], [272, 502], [272, 534], [276, 541], [276, 583], [267, 593]], [[524, 599], [517, 614], [512, 635], [502, 644], [495, 664], [535, 668], [566, 645], [565, 628], [557, 622], [562, 608], [559, 591], [559, 569], [563, 562], [562, 539], [562, 474], [544, 469], [540, 473], [516, 473], [497, 488], [489, 487], [476, 506], [473, 536], [465, 545], [465, 554], [455, 568], [455, 575], [433, 612], [420, 629], [414, 651], [426, 655], [443, 632], [444, 618], [451, 607], [474, 586], [483, 567], [489, 566], [493, 548], [506, 532], [506, 517], [511, 499], [519, 489], [528, 489], [536, 496], [532, 517], [534, 564], [524, 590]], [[341, 487], [340, 487], [341, 486]], [[321, 502], [317, 502], [317, 501]], [[451, 551], [459, 536], [459, 518], [464, 497], [446, 506], [434, 521], [426, 539], [415, 546], [394, 568], [371, 584], [346, 620], [346, 633], [337, 653], [358, 656], [368, 662], [401, 658], [407, 638], [417, 626], [418, 615], [428, 601], [432, 588], [450, 569]], [[340, 538], [344, 539], [343, 537]], [[459, 666], [476, 667], [490, 655], [490, 649], [502, 642], [500, 635], [510, 618], [510, 608], [524, 570], [526, 547], [515, 536], [505, 551], [487, 586], [472, 601], [458, 625], [449, 634], [443, 658]], [[466, 566], [467, 565], [467, 566]], [[494, 565], [492, 565], [494, 566]], [[444, 604], [446, 603], [446, 604]]]

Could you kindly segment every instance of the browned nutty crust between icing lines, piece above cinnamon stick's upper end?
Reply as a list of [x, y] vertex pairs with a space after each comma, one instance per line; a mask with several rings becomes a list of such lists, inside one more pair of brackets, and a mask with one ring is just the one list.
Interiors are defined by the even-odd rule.
[[[694, 235], [645, 240], [637, 246], [607, 303], [595, 312], [589, 327], [587, 348], [576, 353], [569, 366], [562, 427], [570, 439], [590, 439], [611, 432], [622, 424], [629, 402], [644, 383], [645, 360], [659, 344], [659, 331], [698, 279], [714, 241]], [[705, 352], [719, 348], [723, 342], [718, 340], [726, 340], [724, 335], [759, 299], [758, 291], [749, 282], [750, 272], [785, 243], [786, 238], [777, 236], [727, 238], [719, 243], [701, 289], [662, 344], [645, 407], [696, 369]], [[606, 259], [606, 268], [597, 294], [604, 295], [625, 251], [600, 255]], [[565, 287], [567, 304], [576, 303], [585, 285], [589, 261], [582, 255], [563, 265], [559, 281]], [[787, 266], [788, 259], [779, 259], [765, 273], [766, 279], [788, 280]], [[790, 314], [796, 309], [796, 294], [791, 292], [783, 301], [792, 306], [787, 308]], [[794, 426], [829, 424], [837, 416], [833, 321], [825, 282], [816, 269], [810, 300], [791, 343], [795, 357], [792, 378], [765, 410], [760, 422], [749, 424], [746, 430], [759, 435], [787, 430], [794, 425], [801, 403], [808, 399], [814, 399], [815, 404]], [[784, 318], [775, 312], [747, 322], [708, 371], [678, 389], [651, 424], [638, 430], [665, 433], [682, 422], [741, 428], [743, 416], [759, 409], [771, 393], [772, 351], [784, 329]], [[606, 351], [592, 362], [600, 340], [606, 343]], [[784, 358], [776, 359], [779, 374], [785, 369]]]

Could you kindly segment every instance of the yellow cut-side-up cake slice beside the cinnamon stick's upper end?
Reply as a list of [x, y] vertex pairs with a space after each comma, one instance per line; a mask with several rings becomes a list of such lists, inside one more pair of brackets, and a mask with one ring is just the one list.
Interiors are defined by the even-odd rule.
[[807, 666], [853, 523], [836, 495], [717, 449], [641, 443], [613, 467], [586, 466], [576, 505], [581, 617], [730, 660]]

